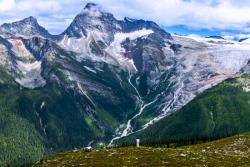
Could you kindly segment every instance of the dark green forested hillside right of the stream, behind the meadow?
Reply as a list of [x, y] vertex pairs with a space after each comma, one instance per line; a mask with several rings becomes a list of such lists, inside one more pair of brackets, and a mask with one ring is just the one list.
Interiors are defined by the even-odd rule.
[[143, 141], [216, 137], [250, 130], [250, 76], [231, 78], [205, 91], [177, 112], [121, 139]]

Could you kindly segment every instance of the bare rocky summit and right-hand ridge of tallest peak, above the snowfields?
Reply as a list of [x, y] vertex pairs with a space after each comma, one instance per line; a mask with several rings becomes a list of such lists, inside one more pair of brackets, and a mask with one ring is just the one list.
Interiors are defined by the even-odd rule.
[[129, 33], [143, 28], [152, 29], [166, 38], [171, 38], [169, 33], [154, 22], [129, 18], [117, 20], [113, 14], [103, 11], [101, 6], [94, 3], [87, 4], [61, 35], [67, 35], [69, 38], [81, 38], [87, 37], [91, 33], [99, 35], [105, 39], [106, 43], [110, 43], [117, 32]]

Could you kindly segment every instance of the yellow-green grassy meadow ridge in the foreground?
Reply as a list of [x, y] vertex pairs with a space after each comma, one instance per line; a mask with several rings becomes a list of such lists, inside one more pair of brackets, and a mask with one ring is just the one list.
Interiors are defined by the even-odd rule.
[[57, 166], [250, 166], [250, 133], [177, 148], [121, 147], [64, 152], [33, 167]]

